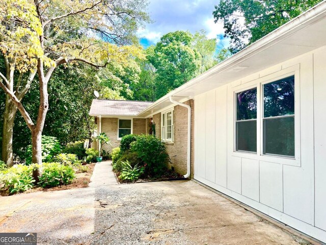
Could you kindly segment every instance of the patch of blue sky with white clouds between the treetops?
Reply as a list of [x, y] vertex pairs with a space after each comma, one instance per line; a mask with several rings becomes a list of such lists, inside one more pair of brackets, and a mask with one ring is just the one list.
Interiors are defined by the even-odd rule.
[[174, 31], [195, 33], [205, 30], [208, 38], [216, 37], [216, 48], [228, 47], [223, 23], [214, 23], [212, 12], [219, 0], [150, 0], [149, 15], [154, 21], [138, 30], [141, 44], [146, 48], [156, 44], [164, 34]]

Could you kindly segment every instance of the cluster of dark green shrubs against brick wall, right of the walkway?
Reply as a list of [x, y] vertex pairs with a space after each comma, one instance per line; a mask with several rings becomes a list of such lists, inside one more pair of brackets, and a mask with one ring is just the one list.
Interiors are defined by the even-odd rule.
[[164, 143], [153, 135], [126, 135], [120, 148], [112, 150], [112, 168], [120, 182], [181, 178], [168, 163]]

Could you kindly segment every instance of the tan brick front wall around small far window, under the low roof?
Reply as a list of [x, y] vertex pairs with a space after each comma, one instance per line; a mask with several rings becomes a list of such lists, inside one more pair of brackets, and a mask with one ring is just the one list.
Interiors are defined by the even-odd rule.
[[[146, 133], [146, 119], [133, 118], [132, 120], [132, 133], [133, 134], [145, 134]], [[110, 144], [104, 144], [102, 149], [105, 151], [112, 150], [113, 148], [120, 146], [120, 140], [118, 140], [118, 118], [103, 118], [102, 117], [102, 132], [110, 138]], [[98, 133], [98, 129], [97, 129]], [[92, 144], [92, 147], [94, 144]], [[96, 149], [98, 148], [98, 142], [96, 142]]]

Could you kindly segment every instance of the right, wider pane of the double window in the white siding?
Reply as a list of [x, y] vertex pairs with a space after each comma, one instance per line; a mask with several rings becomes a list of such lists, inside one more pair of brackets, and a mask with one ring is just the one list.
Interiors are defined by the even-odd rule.
[[294, 76], [263, 85], [263, 154], [294, 157]]

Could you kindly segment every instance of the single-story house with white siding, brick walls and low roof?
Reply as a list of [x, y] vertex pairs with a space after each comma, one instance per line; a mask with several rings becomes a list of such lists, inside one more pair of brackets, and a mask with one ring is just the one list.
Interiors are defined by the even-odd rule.
[[325, 1], [137, 113], [105, 103], [99, 131], [154, 124], [176, 171], [326, 242]]

